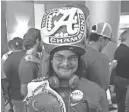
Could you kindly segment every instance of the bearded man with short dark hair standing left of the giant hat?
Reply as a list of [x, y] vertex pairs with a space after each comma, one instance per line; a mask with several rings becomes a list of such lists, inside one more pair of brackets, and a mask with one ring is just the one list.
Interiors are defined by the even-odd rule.
[[35, 28], [28, 29], [23, 41], [26, 54], [20, 61], [19, 76], [21, 82], [20, 91], [25, 97], [27, 84], [39, 75], [40, 59], [37, 56], [37, 52], [42, 51], [40, 30]]

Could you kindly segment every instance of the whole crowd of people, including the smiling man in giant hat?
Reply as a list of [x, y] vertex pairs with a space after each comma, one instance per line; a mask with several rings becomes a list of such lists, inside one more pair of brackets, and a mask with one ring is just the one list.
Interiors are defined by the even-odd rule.
[[89, 13], [83, 5], [52, 9], [40, 30], [29, 28], [23, 39], [8, 42], [1, 61], [2, 112], [7, 103], [10, 112], [109, 112], [113, 70], [118, 112], [129, 112], [129, 30], [110, 62], [102, 51], [114, 42], [112, 28], [102, 21], [89, 30]]

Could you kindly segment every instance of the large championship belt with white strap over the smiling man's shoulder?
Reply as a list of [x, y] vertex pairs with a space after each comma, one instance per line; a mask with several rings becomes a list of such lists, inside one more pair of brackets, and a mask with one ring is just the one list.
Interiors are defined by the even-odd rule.
[[30, 82], [24, 102], [27, 112], [66, 112], [63, 99], [50, 88], [48, 80]]

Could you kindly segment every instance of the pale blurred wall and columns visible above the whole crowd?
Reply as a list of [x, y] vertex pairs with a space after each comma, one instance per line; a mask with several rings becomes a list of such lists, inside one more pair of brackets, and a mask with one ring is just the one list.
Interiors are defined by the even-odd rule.
[[119, 34], [129, 28], [129, 1], [1, 1], [1, 54], [7, 52], [9, 40], [16, 36], [23, 38], [30, 27], [40, 29], [45, 11], [72, 3], [89, 8], [91, 25], [105, 20], [112, 26], [116, 43], [110, 43], [104, 50], [112, 60]]

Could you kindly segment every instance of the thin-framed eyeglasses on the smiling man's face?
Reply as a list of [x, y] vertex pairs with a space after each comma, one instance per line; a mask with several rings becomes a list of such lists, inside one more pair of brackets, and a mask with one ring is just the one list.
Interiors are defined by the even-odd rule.
[[78, 56], [77, 55], [71, 55], [69, 57], [65, 57], [63, 55], [56, 55], [56, 56], [53, 56], [57, 61], [59, 62], [63, 62], [65, 61], [66, 59], [69, 61], [69, 62], [74, 62], [74, 61], [77, 61], [78, 59]]

